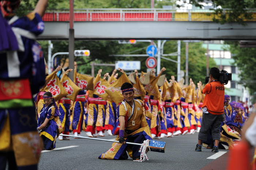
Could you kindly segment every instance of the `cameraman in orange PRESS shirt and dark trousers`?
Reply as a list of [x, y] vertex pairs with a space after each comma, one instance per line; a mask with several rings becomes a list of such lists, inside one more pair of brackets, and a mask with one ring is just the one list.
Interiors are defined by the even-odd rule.
[[198, 134], [196, 151], [202, 151], [202, 141], [207, 140], [207, 133], [211, 128], [212, 138], [215, 142], [211, 151], [219, 152], [218, 144], [221, 139], [219, 127], [223, 121], [225, 88], [218, 79], [219, 69], [212, 67], [210, 69], [209, 81], [202, 90], [202, 93], [206, 94], [206, 96], [202, 107], [202, 127]]

